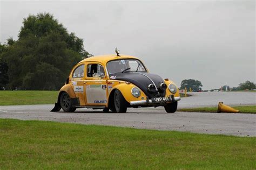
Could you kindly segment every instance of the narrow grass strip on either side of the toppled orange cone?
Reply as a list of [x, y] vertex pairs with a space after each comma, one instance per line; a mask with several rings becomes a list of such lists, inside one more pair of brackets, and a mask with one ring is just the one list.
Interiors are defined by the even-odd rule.
[[[217, 108], [218, 107], [184, 108], [184, 109], [178, 109], [178, 111], [185, 111], [185, 112], [217, 112]], [[256, 114], [256, 105], [244, 105], [244, 106], [237, 106], [237, 107], [232, 107], [232, 108], [239, 110], [240, 113]]]

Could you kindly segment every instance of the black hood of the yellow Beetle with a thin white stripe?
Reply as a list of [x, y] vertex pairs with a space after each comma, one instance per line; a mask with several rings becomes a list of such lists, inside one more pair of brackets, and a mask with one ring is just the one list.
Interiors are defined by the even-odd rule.
[[[110, 79], [131, 82], [140, 88], [151, 99], [152, 97], [158, 96], [158, 93], [152, 93], [151, 91], [147, 90], [149, 84], [152, 84], [152, 81], [149, 78], [154, 82], [154, 84], [156, 84], [158, 89], [160, 84], [164, 83], [164, 80], [159, 75], [151, 73], [125, 72], [110, 75]], [[165, 91], [159, 90], [159, 95], [165, 96]]]

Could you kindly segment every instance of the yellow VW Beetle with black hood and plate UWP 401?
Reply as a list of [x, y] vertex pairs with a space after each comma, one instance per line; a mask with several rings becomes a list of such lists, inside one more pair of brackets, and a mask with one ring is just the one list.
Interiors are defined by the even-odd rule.
[[126, 112], [129, 107], [159, 106], [166, 112], [177, 110], [180, 96], [176, 84], [149, 73], [138, 58], [120, 55], [117, 49], [116, 53], [92, 56], [77, 63], [51, 111], [92, 108]]

